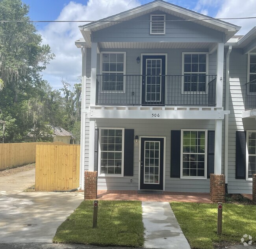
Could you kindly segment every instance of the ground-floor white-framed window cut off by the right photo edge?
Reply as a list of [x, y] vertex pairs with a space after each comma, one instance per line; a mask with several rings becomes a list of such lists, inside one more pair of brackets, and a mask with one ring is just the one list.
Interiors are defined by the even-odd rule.
[[247, 131], [246, 180], [256, 174], [256, 131]]

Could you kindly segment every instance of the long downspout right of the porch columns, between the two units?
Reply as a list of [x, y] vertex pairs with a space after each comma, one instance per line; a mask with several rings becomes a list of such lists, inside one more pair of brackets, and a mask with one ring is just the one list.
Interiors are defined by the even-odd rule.
[[[232, 51], [232, 46], [228, 47], [226, 53], [226, 86], [225, 86], [225, 111], [229, 109], [229, 55]], [[228, 114], [225, 115], [225, 130], [224, 130], [224, 175], [225, 175], [225, 192], [228, 194]]]

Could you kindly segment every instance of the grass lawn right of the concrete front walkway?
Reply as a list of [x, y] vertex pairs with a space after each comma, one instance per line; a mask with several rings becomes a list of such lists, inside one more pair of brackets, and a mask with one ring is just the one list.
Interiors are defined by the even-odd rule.
[[223, 233], [217, 235], [217, 204], [171, 202], [174, 215], [192, 249], [212, 249], [213, 243], [241, 243], [244, 234], [256, 241], [256, 206], [223, 204]]

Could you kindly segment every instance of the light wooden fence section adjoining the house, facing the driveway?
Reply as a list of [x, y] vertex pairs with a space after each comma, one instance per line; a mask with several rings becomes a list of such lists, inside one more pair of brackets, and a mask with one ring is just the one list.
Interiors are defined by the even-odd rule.
[[37, 145], [35, 190], [71, 190], [79, 186], [80, 145]]

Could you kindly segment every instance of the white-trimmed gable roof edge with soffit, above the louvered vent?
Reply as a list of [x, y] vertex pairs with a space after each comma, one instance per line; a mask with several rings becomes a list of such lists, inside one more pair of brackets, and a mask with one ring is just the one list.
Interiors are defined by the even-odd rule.
[[100, 19], [98, 21], [79, 26], [79, 28], [83, 35], [83, 38], [85, 39], [86, 45], [90, 46], [91, 45], [91, 43], [90, 43], [91, 32], [107, 28], [109, 26], [120, 23], [121, 21], [131, 20], [133, 18], [151, 13], [153, 11], [163, 11], [163, 12], [169, 13], [173, 16], [180, 17], [184, 20], [194, 20], [193, 22], [195, 22], [195, 23], [198, 23], [198, 24], [206, 26], [208, 28], [218, 30], [218, 31], [225, 33], [227, 40], [230, 39], [241, 28], [234, 24], [230, 24], [228, 22], [221, 21], [219, 19], [205, 20], [205, 19], [209, 19], [212, 17], [202, 15], [195, 11], [191, 11], [189, 9], [185, 9], [180, 6], [170, 4], [170, 3], [162, 1], [162, 0], [156, 0], [154, 2], [150, 2], [148, 4], [144, 4], [142, 6], [135, 7], [134, 9], [130, 9], [128, 11], [124, 11], [119, 14]]

